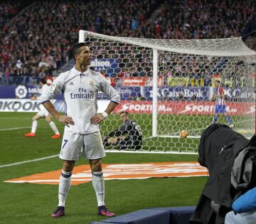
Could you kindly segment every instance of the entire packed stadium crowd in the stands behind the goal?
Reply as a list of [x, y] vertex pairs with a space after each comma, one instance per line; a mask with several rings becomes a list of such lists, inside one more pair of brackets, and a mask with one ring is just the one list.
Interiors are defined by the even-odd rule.
[[[81, 28], [138, 38], [238, 37], [255, 18], [255, 5], [238, 0], [218, 6], [207, 0], [3, 1], [0, 84], [37, 83], [53, 75], [70, 60], [70, 46], [78, 42]], [[151, 18], [159, 7], [160, 14]], [[255, 40], [250, 43], [254, 49]], [[129, 74], [151, 75], [146, 68]]]

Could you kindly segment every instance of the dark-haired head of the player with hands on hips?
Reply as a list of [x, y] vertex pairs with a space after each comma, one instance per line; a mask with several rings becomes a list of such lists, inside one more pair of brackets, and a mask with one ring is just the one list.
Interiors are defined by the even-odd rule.
[[75, 43], [72, 47], [71, 52], [75, 63], [79, 63], [79, 65], [83, 66], [90, 65], [91, 53], [86, 43]]

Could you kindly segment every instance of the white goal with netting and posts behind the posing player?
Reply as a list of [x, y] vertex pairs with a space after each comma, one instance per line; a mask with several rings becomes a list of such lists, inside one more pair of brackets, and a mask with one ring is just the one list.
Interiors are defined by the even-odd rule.
[[[120, 112], [142, 129], [140, 151], [195, 153], [213, 122], [246, 137], [255, 133], [255, 51], [241, 38], [159, 40], [80, 31], [79, 42], [90, 47], [91, 68], [121, 95], [101, 125], [102, 136], [122, 125]], [[106, 99], [100, 94], [98, 100]]]

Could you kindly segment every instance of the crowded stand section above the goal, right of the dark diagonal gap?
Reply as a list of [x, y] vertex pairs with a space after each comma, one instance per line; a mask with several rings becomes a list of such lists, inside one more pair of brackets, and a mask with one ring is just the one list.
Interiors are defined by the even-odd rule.
[[[239, 10], [238, 10], [239, 9]], [[184, 14], [184, 11], [186, 12]], [[161, 14], [142, 29], [146, 38], [238, 37], [255, 16], [254, 1], [164, 1]]]

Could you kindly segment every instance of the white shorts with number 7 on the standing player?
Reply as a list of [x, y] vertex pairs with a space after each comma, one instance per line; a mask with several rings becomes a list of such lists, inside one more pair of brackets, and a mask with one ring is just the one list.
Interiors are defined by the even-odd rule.
[[64, 132], [60, 149], [60, 159], [78, 160], [80, 156], [87, 159], [101, 159], [106, 156], [100, 132], [75, 134]]

